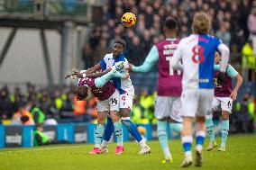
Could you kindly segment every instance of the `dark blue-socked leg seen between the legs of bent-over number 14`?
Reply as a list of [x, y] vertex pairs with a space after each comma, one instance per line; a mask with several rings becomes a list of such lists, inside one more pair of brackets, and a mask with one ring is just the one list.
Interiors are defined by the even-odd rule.
[[110, 117], [107, 117], [107, 122], [105, 124], [105, 131], [104, 131], [104, 136], [103, 136], [103, 142], [101, 144], [101, 150], [103, 153], [107, 153], [107, 147], [108, 147], [108, 142], [111, 139], [112, 133], [114, 132], [114, 124], [113, 121]]

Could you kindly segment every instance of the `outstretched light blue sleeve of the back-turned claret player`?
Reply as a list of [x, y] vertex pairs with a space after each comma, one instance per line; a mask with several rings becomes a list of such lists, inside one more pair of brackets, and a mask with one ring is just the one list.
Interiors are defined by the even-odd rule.
[[137, 73], [146, 73], [151, 70], [151, 68], [159, 61], [159, 50], [154, 45], [151, 48], [150, 53], [148, 54], [147, 58], [145, 59], [142, 66], [133, 67], [133, 72]]

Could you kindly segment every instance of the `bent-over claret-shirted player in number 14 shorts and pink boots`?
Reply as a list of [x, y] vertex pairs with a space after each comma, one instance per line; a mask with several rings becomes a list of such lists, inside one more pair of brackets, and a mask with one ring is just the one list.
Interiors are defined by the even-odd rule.
[[123, 148], [123, 130], [122, 123], [119, 115], [119, 92], [115, 88], [114, 84], [109, 82], [112, 77], [122, 77], [128, 78], [129, 75], [124, 73], [119, 73], [115, 71], [110, 71], [98, 78], [84, 77], [85, 75], [74, 72], [67, 75], [66, 78], [79, 78], [78, 87], [76, 89], [77, 99], [86, 100], [89, 91], [97, 97], [97, 125], [95, 131], [95, 147], [90, 154], [101, 154], [102, 149], [100, 147], [101, 141], [103, 139], [105, 130], [105, 118], [109, 112], [109, 115], [114, 123], [114, 134], [117, 139], [117, 147], [115, 149], [115, 154], [120, 154], [118, 152], [119, 148]]

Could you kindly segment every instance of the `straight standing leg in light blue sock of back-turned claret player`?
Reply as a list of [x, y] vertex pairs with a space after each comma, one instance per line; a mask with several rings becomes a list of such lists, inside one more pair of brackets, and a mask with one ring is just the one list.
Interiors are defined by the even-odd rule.
[[157, 122], [157, 134], [158, 138], [160, 140], [160, 146], [162, 148], [163, 154], [165, 159], [162, 161], [162, 163], [171, 163], [172, 162], [172, 157], [169, 152], [169, 147], [168, 147], [168, 136], [167, 136], [167, 121], [160, 121], [158, 120]]

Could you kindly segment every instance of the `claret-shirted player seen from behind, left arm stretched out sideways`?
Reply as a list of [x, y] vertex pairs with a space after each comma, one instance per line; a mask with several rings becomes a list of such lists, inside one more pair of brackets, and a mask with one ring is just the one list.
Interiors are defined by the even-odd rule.
[[151, 51], [145, 59], [142, 66], [130, 69], [137, 73], [146, 73], [158, 62], [159, 64], [159, 82], [157, 96], [155, 98], [155, 117], [157, 122], [157, 133], [160, 140], [160, 146], [165, 159], [162, 163], [172, 162], [172, 157], [168, 146], [167, 124], [170, 130], [180, 133], [182, 128], [182, 118], [180, 115], [181, 104], [181, 71], [173, 70], [170, 66], [173, 53], [178, 46], [179, 40], [176, 38], [178, 25], [173, 18], [167, 18], [164, 26], [166, 40], [162, 40], [151, 48]]

